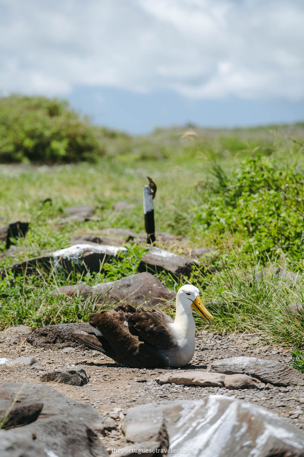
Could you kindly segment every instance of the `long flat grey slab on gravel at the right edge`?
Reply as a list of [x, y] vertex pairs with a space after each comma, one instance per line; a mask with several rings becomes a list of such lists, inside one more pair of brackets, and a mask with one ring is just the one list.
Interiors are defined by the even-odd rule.
[[262, 383], [275, 386], [304, 385], [304, 376], [298, 370], [276, 360], [263, 360], [256, 357], [230, 357], [214, 360], [207, 371], [235, 374], [242, 373], [255, 377]]

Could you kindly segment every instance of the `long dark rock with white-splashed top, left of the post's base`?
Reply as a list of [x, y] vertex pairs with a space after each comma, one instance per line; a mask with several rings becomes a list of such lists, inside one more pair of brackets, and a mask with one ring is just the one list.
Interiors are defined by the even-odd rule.
[[75, 244], [50, 254], [41, 255], [32, 259], [13, 264], [10, 268], [24, 274], [35, 274], [37, 268], [50, 270], [56, 268], [67, 272], [99, 271], [104, 262], [110, 262], [119, 252], [127, 252], [123, 246], [108, 246], [104, 244]]

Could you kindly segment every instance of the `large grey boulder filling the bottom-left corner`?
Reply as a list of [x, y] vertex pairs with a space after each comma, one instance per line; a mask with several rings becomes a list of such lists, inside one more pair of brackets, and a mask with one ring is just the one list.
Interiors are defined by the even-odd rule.
[[96, 409], [43, 384], [0, 384], [0, 410], [16, 398], [19, 405], [43, 403], [43, 408], [37, 420], [0, 430], [1, 457], [108, 457], [97, 435], [103, 424]]

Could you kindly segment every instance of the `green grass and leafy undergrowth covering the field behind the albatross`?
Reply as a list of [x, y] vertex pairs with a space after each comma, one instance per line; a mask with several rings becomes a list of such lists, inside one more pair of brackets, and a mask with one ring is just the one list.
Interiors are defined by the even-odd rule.
[[[304, 125], [233, 131], [196, 129], [198, 137], [183, 142], [184, 132], [182, 128], [158, 129], [132, 138], [100, 128], [98, 138], [106, 155], [95, 164], [3, 165], [3, 223], [29, 221], [30, 228], [24, 239], [13, 240], [20, 248], [16, 258], [1, 260], [0, 268], [64, 248], [76, 234], [98, 234], [106, 227], [143, 231], [142, 186], [149, 175], [157, 184], [156, 229], [186, 238], [164, 247], [184, 255], [195, 247], [215, 249], [214, 255], [204, 259], [208, 268], [194, 270], [190, 278], [200, 288], [203, 301], [222, 303], [209, 307], [215, 317], [212, 329], [257, 333], [279, 345], [302, 349], [304, 314], [291, 313], [288, 305], [303, 303], [304, 198], [299, 189], [303, 188], [304, 160], [299, 150]], [[287, 188], [284, 191], [285, 181], [288, 192]], [[269, 197], [271, 186], [274, 193]], [[288, 199], [282, 197], [284, 193]], [[46, 198], [52, 198], [51, 205], [42, 203]], [[128, 212], [114, 212], [117, 201], [134, 206]], [[265, 201], [274, 205], [267, 207]], [[65, 207], [72, 205], [95, 207], [99, 220], [58, 224]], [[258, 213], [254, 224], [252, 208]], [[260, 219], [267, 215], [266, 226]], [[245, 229], [250, 226], [254, 232]], [[284, 247], [277, 228], [291, 247]], [[135, 273], [144, 247], [126, 246], [129, 251], [124, 260], [105, 265], [102, 273], [80, 276], [40, 271], [35, 277], [14, 277], [8, 272], [0, 281], [0, 326], [25, 324], [36, 328], [87, 320], [96, 303], [81, 297], [55, 297], [54, 290]], [[289, 279], [280, 281], [273, 274], [277, 266], [297, 271], [297, 276], [288, 274]], [[187, 281], [176, 281], [165, 272], [157, 277], [175, 291]], [[196, 317], [196, 322], [204, 327], [200, 318]]]

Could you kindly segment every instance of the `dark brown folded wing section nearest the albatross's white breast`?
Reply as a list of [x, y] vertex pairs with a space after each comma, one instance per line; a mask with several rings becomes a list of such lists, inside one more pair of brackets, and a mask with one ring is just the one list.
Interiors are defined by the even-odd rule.
[[178, 343], [172, 336], [169, 327], [172, 319], [169, 316], [169, 319], [164, 316], [166, 316], [165, 313], [155, 309], [141, 308], [141, 311], [136, 310], [128, 318], [130, 331], [159, 349], [174, 348]]

